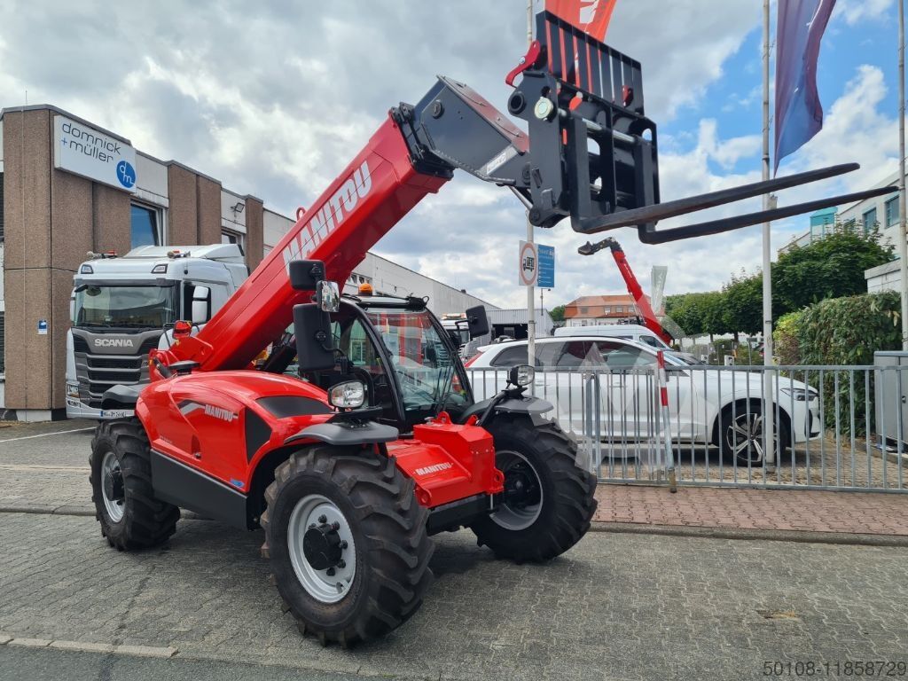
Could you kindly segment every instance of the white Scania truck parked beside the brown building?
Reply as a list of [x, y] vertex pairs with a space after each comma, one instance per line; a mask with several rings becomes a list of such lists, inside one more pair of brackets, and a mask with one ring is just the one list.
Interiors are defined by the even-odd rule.
[[104, 419], [104, 390], [148, 380], [148, 352], [177, 320], [203, 324], [249, 276], [236, 244], [95, 253], [73, 281], [66, 334], [66, 416]]

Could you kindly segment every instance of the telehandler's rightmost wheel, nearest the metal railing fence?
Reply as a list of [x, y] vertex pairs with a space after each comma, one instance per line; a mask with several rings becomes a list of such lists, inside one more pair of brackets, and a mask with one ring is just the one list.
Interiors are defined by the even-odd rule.
[[505, 491], [498, 510], [471, 526], [479, 546], [518, 562], [561, 555], [587, 533], [596, 511], [596, 478], [577, 466], [577, 445], [550, 421], [499, 416], [488, 429]]

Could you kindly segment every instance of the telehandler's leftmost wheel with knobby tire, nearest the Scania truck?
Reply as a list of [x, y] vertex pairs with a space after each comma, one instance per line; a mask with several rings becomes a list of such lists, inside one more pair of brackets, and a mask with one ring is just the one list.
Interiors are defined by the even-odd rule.
[[150, 457], [139, 419], [101, 421], [94, 431], [88, 458], [94, 517], [117, 550], [153, 547], [176, 531], [180, 509], [154, 498]]

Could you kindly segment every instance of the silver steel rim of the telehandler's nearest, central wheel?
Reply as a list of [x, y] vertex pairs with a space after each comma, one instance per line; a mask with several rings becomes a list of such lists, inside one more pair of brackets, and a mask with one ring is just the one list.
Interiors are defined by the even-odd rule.
[[[303, 537], [313, 525], [322, 524], [320, 518], [325, 518], [324, 523], [338, 523], [336, 530], [341, 541], [346, 542], [342, 550], [344, 567], [335, 566], [333, 575], [329, 575], [329, 568], [319, 570], [313, 568], [303, 551]], [[310, 494], [301, 498], [293, 507], [290, 524], [287, 526], [287, 548], [290, 553], [293, 572], [306, 593], [321, 603], [337, 603], [350, 593], [353, 579], [356, 577], [356, 545], [350, 523], [344, 516], [341, 508], [321, 494]]]

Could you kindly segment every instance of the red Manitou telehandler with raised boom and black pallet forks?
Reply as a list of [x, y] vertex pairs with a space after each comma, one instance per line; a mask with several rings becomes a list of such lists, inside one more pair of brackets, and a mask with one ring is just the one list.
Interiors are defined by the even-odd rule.
[[[457, 168], [508, 187], [540, 227], [568, 216], [584, 233], [631, 224], [645, 242], [892, 191], [656, 232], [660, 218], [854, 166], [660, 204], [640, 65], [554, 15], [538, 16], [537, 35], [507, 78], [514, 85], [520, 76], [508, 112], [528, 133], [466, 85], [439, 78], [416, 106], [391, 109], [202, 331], [176, 325], [173, 346], [152, 352], [149, 385], [105, 393], [104, 409], [134, 410], [102, 423], [93, 440], [94, 504], [112, 546], [162, 542], [180, 507], [261, 526], [262, 554], [301, 630], [349, 646], [419, 607], [433, 533], [466, 526], [518, 561], [577, 543], [596, 508], [596, 480], [545, 418], [552, 406], [525, 394], [532, 369], [515, 367], [507, 390], [476, 402], [425, 301], [337, 293], [366, 251]], [[487, 323], [481, 309], [469, 311], [474, 335]]]

